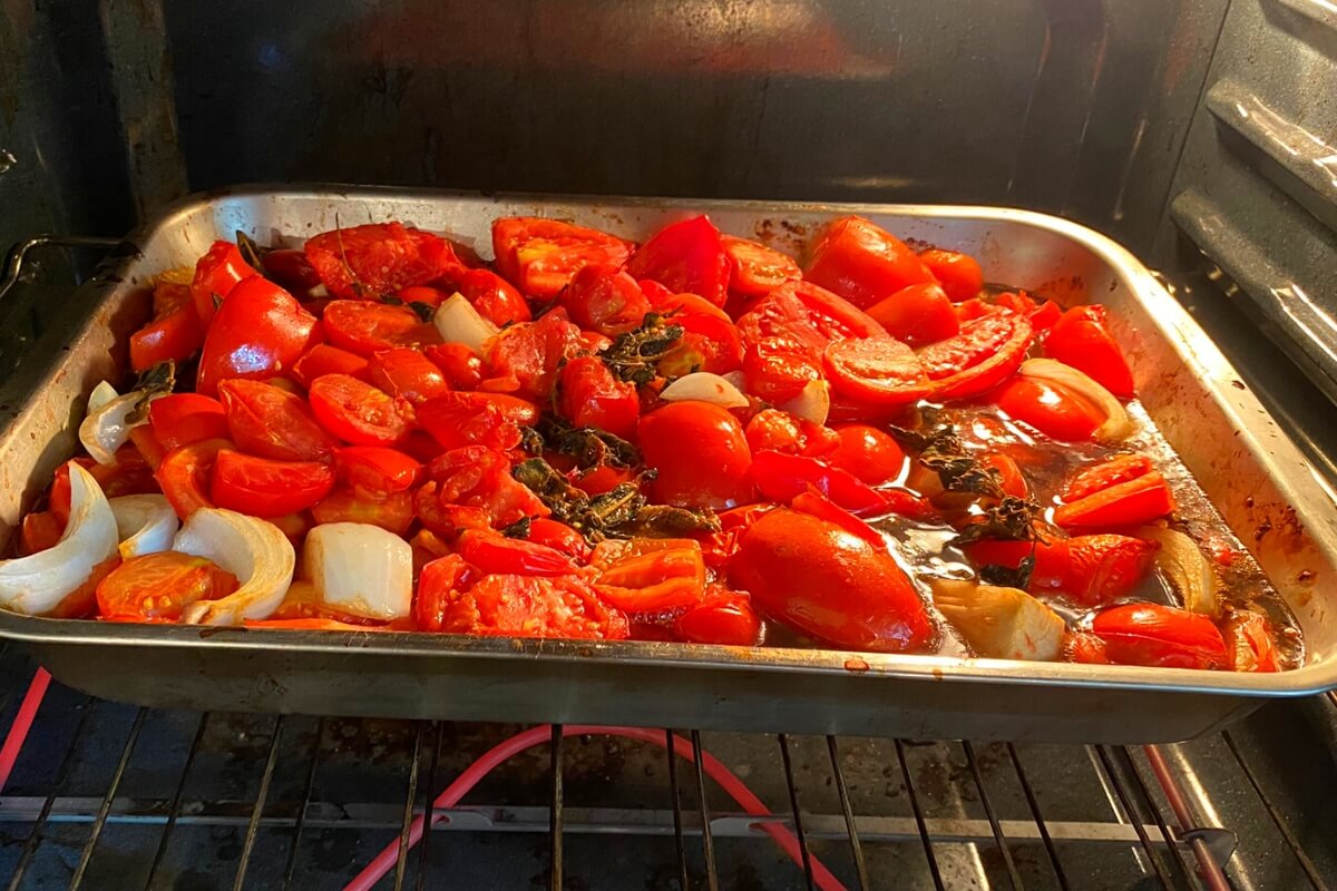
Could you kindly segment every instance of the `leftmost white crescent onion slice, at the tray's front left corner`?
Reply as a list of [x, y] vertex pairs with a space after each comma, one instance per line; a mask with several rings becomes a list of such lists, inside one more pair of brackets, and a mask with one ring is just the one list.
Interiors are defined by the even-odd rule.
[[51, 548], [0, 561], [0, 606], [29, 616], [49, 613], [94, 566], [116, 553], [116, 518], [92, 474], [70, 462], [70, 521]]

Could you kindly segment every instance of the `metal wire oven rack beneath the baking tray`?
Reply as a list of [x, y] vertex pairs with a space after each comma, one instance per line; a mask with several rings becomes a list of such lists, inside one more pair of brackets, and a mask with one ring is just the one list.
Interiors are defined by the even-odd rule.
[[[0, 652], [0, 669], [7, 729], [35, 668]], [[1337, 768], [1308, 720], [1146, 749], [687, 731], [691, 760], [554, 728], [432, 810], [414, 847], [436, 791], [517, 728], [152, 711], [52, 684], [0, 795], [0, 876], [337, 888], [397, 846], [377, 888], [810, 888], [822, 864], [848, 888], [1321, 891]], [[773, 815], [741, 814], [703, 751]], [[797, 835], [797, 862], [766, 823]]]

